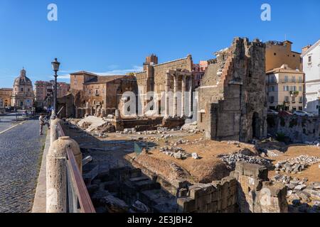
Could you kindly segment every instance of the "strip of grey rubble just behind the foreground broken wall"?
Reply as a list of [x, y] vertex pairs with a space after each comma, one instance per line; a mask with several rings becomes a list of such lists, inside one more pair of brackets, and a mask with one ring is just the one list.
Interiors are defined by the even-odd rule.
[[231, 155], [218, 155], [220, 160], [225, 162], [231, 170], [235, 170], [235, 164], [237, 162], [247, 162], [250, 164], [264, 165], [267, 168], [273, 167], [272, 162], [262, 157], [242, 155], [240, 153], [234, 153]]

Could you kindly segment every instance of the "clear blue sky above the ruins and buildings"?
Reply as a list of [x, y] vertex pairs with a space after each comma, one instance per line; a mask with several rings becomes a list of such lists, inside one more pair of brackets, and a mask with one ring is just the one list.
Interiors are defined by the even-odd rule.
[[[47, 19], [51, 3], [58, 21]], [[272, 21], [260, 19], [264, 3]], [[137, 71], [151, 53], [208, 60], [235, 36], [287, 37], [301, 52], [320, 39], [319, 22], [319, 0], [0, 0], [0, 87], [12, 87], [22, 67], [33, 82], [52, 79], [55, 57], [64, 75]]]

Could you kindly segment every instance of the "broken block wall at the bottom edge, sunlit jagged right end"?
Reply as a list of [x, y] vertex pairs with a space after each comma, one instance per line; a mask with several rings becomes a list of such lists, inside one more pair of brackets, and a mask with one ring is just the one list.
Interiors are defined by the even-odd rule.
[[188, 187], [178, 207], [183, 213], [287, 213], [287, 188], [267, 175], [265, 167], [238, 162], [229, 177]]

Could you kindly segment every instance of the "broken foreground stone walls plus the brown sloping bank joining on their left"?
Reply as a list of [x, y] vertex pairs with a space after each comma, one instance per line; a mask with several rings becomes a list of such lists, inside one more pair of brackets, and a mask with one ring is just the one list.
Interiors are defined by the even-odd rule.
[[[142, 159], [142, 160], [140, 160]], [[228, 177], [209, 184], [191, 184], [186, 173], [148, 155], [129, 160], [134, 167], [176, 196], [183, 213], [287, 213], [287, 187], [268, 179], [261, 165], [238, 162]], [[157, 162], [150, 165], [151, 162]], [[156, 165], [155, 165], [156, 164]], [[156, 169], [150, 166], [158, 166]], [[161, 174], [159, 174], [161, 172]], [[174, 173], [176, 172], [176, 173]]]

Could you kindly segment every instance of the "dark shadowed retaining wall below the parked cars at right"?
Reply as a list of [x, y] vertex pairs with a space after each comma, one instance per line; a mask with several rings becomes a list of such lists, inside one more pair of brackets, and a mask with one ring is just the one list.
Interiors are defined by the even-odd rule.
[[319, 140], [320, 118], [304, 116], [267, 116], [268, 134], [282, 134], [289, 143], [305, 143]]

